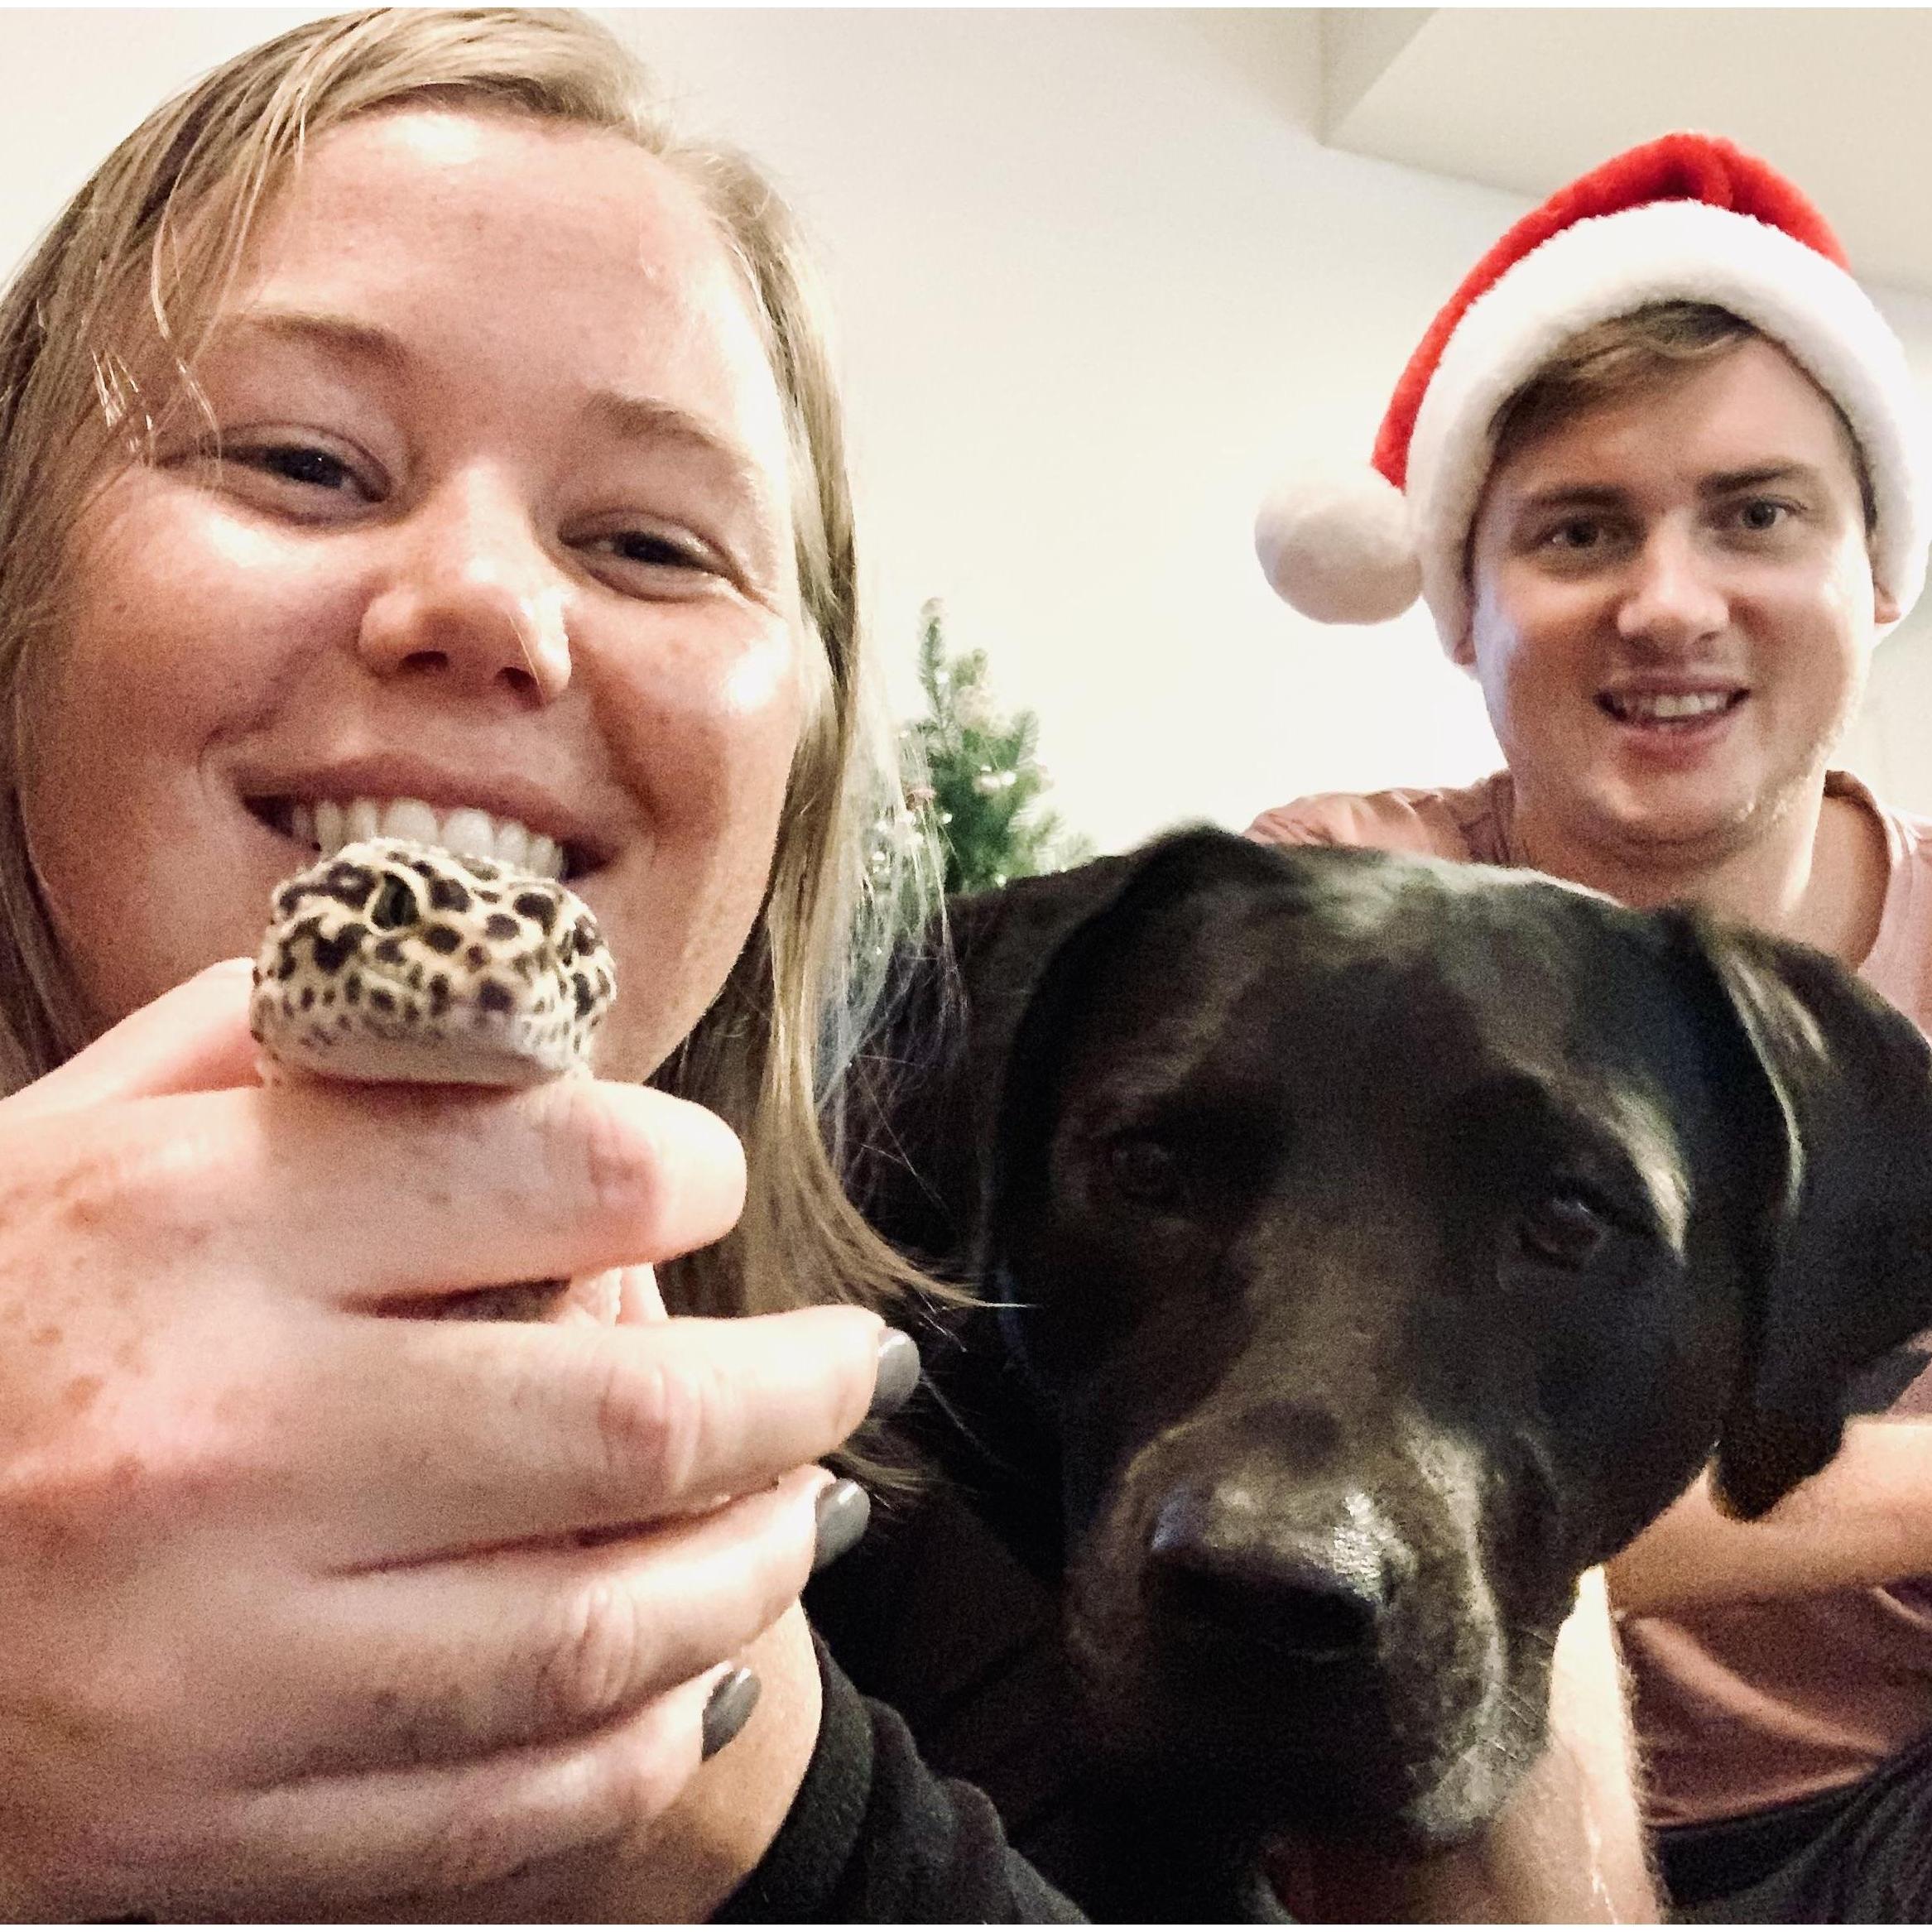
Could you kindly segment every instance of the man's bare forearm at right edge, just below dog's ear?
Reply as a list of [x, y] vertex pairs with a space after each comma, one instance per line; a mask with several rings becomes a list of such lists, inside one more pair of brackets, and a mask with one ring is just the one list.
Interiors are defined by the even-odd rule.
[[1932, 1577], [1932, 1420], [1868, 1418], [1756, 1522], [1719, 1515], [1708, 1472], [1609, 1565], [1625, 1615]]

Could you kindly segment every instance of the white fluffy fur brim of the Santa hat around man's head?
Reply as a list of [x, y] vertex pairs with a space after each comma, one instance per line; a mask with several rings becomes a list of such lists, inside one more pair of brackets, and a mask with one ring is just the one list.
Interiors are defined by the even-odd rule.
[[[1862, 288], [1750, 216], [1654, 201], [1580, 220], [1470, 303], [1443, 346], [1408, 442], [1408, 527], [1443, 647], [1468, 626], [1463, 564], [1490, 475], [1495, 412], [1567, 340], [1654, 301], [1710, 301], [1781, 344], [1845, 412], [1876, 502], [1872, 576], [1903, 614], [1926, 568], [1924, 406]], [[1283, 593], [1287, 595], [1287, 593]]]

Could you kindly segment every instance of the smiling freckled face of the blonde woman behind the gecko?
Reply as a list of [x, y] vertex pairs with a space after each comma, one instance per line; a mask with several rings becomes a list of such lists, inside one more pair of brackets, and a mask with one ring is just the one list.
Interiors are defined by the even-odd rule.
[[29, 844], [97, 1018], [253, 952], [317, 808], [417, 800], [560, 848], [618, 962], [603, 1066], [645, 1074], [757, 914], [817, 649], [696, 195], [614, 135], [352, 122], [199, 381], [224, 460], [189, 423], [108, 483], [29, 690]]

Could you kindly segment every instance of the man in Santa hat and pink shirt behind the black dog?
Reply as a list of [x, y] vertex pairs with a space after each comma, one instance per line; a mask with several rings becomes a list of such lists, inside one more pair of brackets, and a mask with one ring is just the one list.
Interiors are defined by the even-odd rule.
[[[1252, 835], [1692, 898], [1932, 1028], [1932, 821], [1828, 767], [1924, 574], [1918, 400], [1791, 184], [1667, 135], [1561, 191], [1437, 317], [1376, 469], [1269, 504], [1264, 564], [1329, 620], [1420, 583], [1507, 771]], [[1932, 1915], [1932, 1372], [1762, 1522], [1698, 1486], [1609, 1577], [1679, 1915]]]

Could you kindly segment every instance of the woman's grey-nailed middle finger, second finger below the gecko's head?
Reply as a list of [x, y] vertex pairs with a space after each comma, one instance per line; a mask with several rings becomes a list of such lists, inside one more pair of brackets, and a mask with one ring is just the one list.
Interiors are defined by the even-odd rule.
[[881, 1354], [891, 1383], [910, 1366], [904, 1337], [844, 1306], [641, 1327], [350, 1320], [346, 1347], [311, 1354], [290, 1430], [327, 1447], [286, 1478], [286, 1520], [340, 1571], [711, 1509], [831, 1455]]

